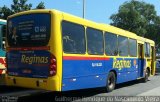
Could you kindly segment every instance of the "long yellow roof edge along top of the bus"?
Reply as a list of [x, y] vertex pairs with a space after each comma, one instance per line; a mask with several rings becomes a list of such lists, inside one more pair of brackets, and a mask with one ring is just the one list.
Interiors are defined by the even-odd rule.
[[103, 30], [103, 31], [106, 31], [106, 32], [115, 33], [117, 35], [126, 36], [126, 37], [129, 37], [129, 38], [136, 38], [140, 41], [146, 41], [146, 42], [154, 44], [154, 41], [152, 41], [150, 39], [140, 37], [140, 36], [137, 36], [135, 33], [129, 32], [127, 30], [123, 30], [121, 28], [111, 26], [111, 25], [108, 25], [108, 24], [96, 23], [96, 22], [93, 22], [93, 21], [90, 21], [90, 20], [87, 20], [87, 19], [83, 19], [81, 17], [77, 17], [77, 16], [71, 15], [69, 13], [61, 12], [61, 11], [58, 11], [58, 10], [55, 10], [55, 9], [29, 10], [29, 11], [24, 11], [24, 12], [20, 12], [20, 13], [17, 13], [17, 14], [13, 14], [13, 15], [9, 16], [8, 18], [23, 15], [23, 14], [29, 14], [29, 13], [50, 13], [50, 12], [52, 12], [54, 14], [63, 15], [63, 19], [66, 19], [66, 20], [71, 21], [73, 23], [78, 23], [78, 24], [81, 24], [81, 25], [84, 25], [84, 26], [87, 26], [87, 27], [92, 27], [92, 28]]

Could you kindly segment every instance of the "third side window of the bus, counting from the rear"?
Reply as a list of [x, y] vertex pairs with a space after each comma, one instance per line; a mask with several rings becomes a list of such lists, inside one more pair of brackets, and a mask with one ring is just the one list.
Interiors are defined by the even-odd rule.
[[105, 53], [109, 56], [116, 56], [118, 54], [117, 35], [105, 33]]

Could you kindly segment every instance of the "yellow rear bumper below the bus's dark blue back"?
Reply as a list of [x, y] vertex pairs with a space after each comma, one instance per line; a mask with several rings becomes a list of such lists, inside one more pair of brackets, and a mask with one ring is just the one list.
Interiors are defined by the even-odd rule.
[[7, 76], [5, 77], [8, 86], [18, 86], [24, 88], [44, 89], [49, 91], [61, 91], [61, 85], [58, 77], [42, 78], [25, 78]]

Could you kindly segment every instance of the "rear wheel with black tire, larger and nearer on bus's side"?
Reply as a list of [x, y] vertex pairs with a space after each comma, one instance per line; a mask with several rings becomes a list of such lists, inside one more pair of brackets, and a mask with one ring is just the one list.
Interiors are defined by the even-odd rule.
[[114, 90], [116, 85], [116, 76], [114, 72], [109, 72], [107, 77], [106, 91], [111, 92]]

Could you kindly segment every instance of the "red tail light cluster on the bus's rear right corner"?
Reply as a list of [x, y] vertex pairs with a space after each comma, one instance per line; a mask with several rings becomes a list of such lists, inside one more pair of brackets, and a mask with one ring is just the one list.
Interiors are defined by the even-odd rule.
[[51, 55], [49, 75], [54, 76], [56, 75], [56, 73], [57, 73], [57, 60], [55, 56]]

